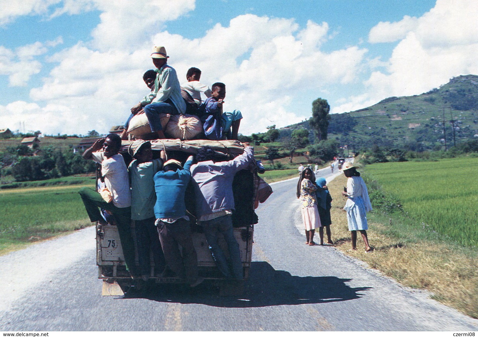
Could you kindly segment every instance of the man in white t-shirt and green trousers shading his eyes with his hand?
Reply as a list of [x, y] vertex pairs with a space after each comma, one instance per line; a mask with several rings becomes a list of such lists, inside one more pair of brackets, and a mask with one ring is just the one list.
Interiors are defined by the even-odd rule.
[[98, 209], [110, 211], [116, 221], [120, 234], [121, 248], [123, 250], [126, 268], [131, 274], [136, 273], [134, 262], [134, 243], [131, 235], [131, 192], [128, 169], [123, 156], [119, 154], [121, 137], [109, 134], [106, 138], [98, 139], [92, 147], [87, 148], [83, 158], [93, 159], [101, 165], [101, 175], [111, 196], [101, 195], [95, 190], [84, 187], [79, 194], [91, 222], [98, 221], [101, 225], [107, 222]]

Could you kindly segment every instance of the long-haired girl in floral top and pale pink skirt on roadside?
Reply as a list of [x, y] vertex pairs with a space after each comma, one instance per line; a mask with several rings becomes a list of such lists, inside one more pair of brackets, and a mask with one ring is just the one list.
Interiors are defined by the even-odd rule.
[[305, 237], [307, 239], [305, 244], [310, 246], [315, 245], [315, 228], [320, 227], [319, 211], [315, 199], [316, 190], [314, 173], [311, 169], [304, 169], [297, 183], [297, 198], [301, 201], [302, 220], [304, 221]]

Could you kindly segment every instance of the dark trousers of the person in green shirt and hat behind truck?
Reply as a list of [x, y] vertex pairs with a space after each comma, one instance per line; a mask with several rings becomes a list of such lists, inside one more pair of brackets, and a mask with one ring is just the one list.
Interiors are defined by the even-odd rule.
[[151, 272], [150, 250], [152, 251], [156, 273], [161, 273], [166, 266], [163, 249], [161, 248], [161, 242], [159, 241], [158, 231], [154, 225], [155, 220], [156, 219], [153, 217], [134, 221], [141, 275], [149, 275]]

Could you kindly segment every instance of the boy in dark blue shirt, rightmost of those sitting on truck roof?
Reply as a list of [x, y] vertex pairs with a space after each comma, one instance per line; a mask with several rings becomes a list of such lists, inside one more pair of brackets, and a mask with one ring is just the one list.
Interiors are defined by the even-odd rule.
[[[242, 114], [239, 110], [223, 113], [222, 105], [225, 97], [226, 84], [216, 82], [212, 85], [211, 97], [207, 98], [202, 105], [206, 110], [206, 115], [203, 117], [203, 127], [207, 139], [238, 139]], [[230, 135], [228, 135], [229, 133]]]

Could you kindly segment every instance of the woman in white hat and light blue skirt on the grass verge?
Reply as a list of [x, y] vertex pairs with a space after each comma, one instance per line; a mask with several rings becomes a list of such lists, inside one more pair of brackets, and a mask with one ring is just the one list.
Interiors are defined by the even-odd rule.
[[342, 171], [347, 179], [347, 189], [342, 195], [347, 197], [344, 210], [347, 211], [348, 230], [352, 237], [352, 249], [357, 249], [357, 231], [362, 234], [365, 243], [365, 252], [371, 252], [373, 249], [369, 246], [367, 237], [367, 212], [372, 210], [370, 203], [369, 191], [365, 182], [357, 171], [357, 166], [350, 162], [343, 165]]

